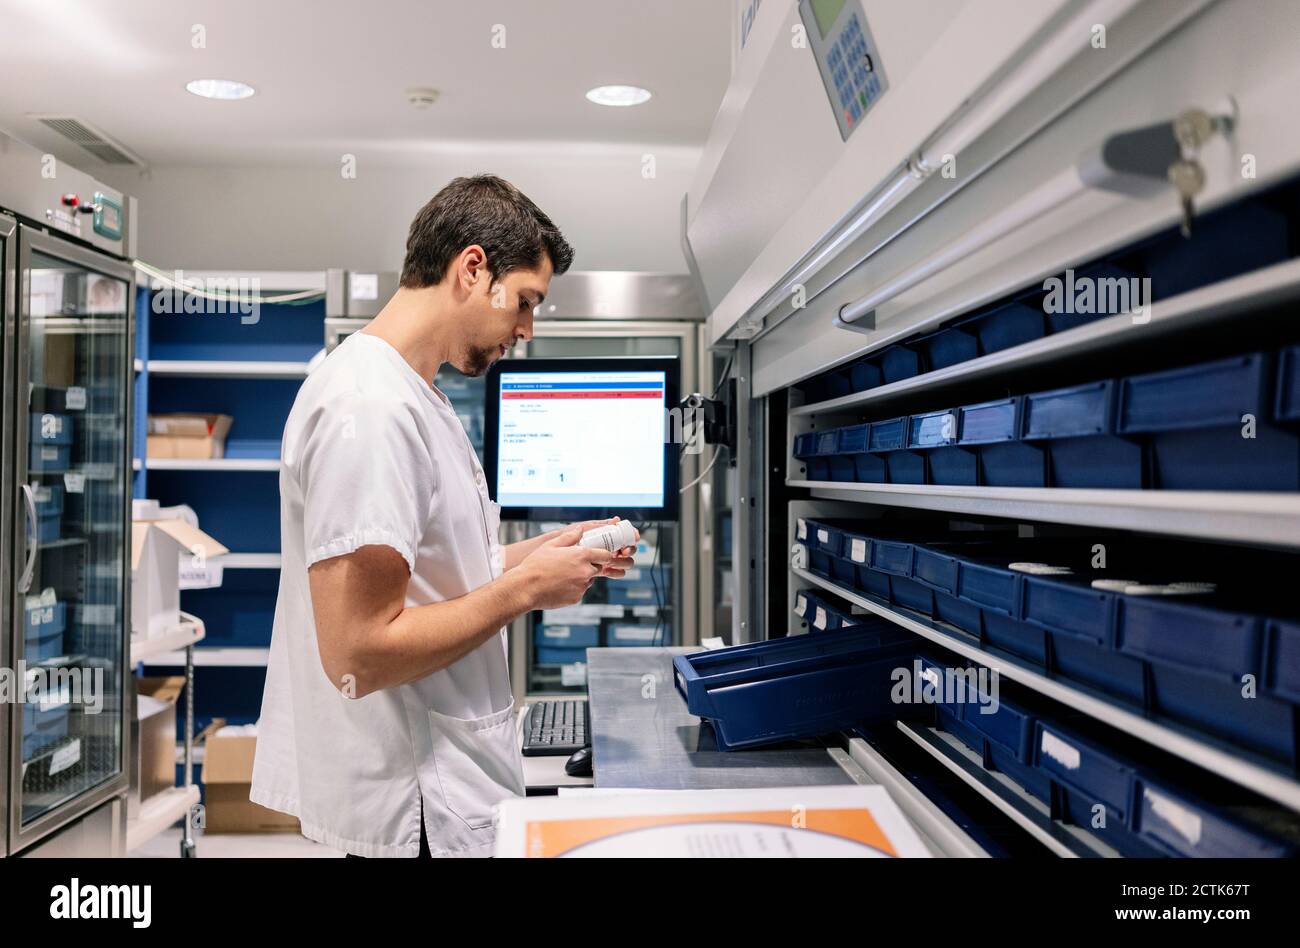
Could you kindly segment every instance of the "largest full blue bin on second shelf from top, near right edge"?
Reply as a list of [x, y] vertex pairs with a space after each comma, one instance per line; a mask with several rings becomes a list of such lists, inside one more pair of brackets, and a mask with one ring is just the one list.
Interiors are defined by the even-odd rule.
[[[1124, 378], [1117, 430], [1149, 442], [1150, 486], [1167, 490], [1300, 489], [1300, 437], [1269, 421], [1269, 359], [1235, 356]], [[1243, 416], [1256, 419], [1243, 437]]]

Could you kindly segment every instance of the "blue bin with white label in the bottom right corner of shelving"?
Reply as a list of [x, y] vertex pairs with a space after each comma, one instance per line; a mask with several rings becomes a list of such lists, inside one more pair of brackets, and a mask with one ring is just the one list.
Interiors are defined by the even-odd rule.
[[1231, 811], [1139, 774], [1134, 831], [1166, 856], [1294, 857], [1296, 840], [1270, 834]]

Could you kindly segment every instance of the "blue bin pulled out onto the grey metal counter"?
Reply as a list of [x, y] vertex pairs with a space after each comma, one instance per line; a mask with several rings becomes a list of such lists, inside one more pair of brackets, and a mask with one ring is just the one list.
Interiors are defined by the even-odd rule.
[[914, 655], [910, 635], [872, 620], [677, 655], [673, 683], [690, 713], [712, 723], [719, 749], [733, 750], [896, 719], [893, 671]]

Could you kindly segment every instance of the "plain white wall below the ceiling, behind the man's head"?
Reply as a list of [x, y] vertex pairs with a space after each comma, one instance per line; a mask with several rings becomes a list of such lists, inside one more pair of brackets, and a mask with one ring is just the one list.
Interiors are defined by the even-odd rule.
[[[645, 177], [646, 155], [654, 177]], [[538, 143], [447, 147], [380, 166], [100, 166], [139, 198], [139, 255], [182, 269], [399, 269], [416, 211], [458, 174], [519, 186], [576, 250], [575, 269], [684, 273], [679, 204], [698, 148]]]

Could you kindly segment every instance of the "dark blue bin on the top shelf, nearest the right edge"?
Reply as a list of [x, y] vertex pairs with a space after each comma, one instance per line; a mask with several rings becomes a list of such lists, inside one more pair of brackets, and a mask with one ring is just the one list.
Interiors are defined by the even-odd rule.
[[1154, 299], [1217, 283], [1287, 259], [1287, 217], [1242, 202], [1199, 216], [1191, 238], [1171, 231], [1143, 252]]

